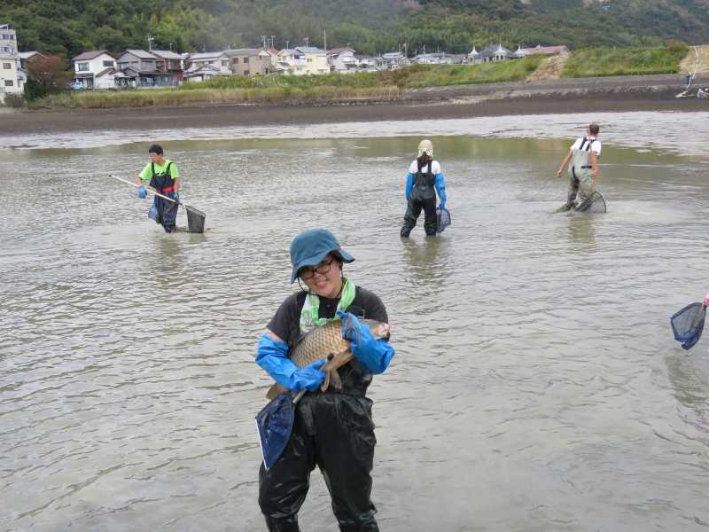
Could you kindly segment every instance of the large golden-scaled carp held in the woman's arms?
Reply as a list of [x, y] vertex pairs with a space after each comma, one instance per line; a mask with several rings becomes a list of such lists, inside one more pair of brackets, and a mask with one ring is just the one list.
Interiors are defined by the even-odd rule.
[[[371, 335], [377, 340], [389, 340], [391, 332], [389, 324], [383, 324], [371, 319], [360, 319], [362, 325], [370, 327]], [[340, 321], [331, 321], [325, 325], [314, 327], [303, 334], [291, 350], [291, 360], [299, 368], [304, 368], [308, 364], [313, 364], [318, 360], [327, 358], [322, 371], [327, 373], [320, 387], [323, 392], [328, 387], [340, 389], [342, 383], [339, 380], [338, 368], [347, 364], [354, 358], [352, 350], [349, 348], [350, 341], [342, 338]], [[287, 392], [288, 389], [274, 384], [266, 394], [268, 399], [273, 399], [278, 394]]]

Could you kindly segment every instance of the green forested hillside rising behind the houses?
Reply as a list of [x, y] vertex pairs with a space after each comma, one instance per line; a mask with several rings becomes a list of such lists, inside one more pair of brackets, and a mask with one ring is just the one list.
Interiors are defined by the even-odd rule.
[[565, 43], [571, 48], [705, 43], [709, 0], [4, 0], [0, 23], [18, 31], [20, 50], [71, 57], [81, 51], [147, 48], [277, 48], [306, 39], [363, 53], [467, 52]]

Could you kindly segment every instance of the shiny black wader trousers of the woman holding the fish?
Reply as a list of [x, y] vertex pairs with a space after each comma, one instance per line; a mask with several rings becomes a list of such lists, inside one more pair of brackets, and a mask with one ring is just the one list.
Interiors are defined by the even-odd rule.
[[269, 471], [261, 463], [259, 505], [269, 532], [299, 532], [298, 511], [310, 472], [323, 472], [332, 512], [343, 532], [378, 532], [370, 500], [374, 461], [371, 400], [346, 394], [306, 394], [298, 403], [291, 439]]

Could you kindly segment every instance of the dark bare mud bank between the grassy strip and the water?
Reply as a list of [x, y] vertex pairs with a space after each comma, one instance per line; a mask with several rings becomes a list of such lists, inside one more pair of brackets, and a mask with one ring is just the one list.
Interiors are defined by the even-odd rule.
[[[709, 74], [697, 76], [709, 84]], [[317, 105], [212, 105], [4, 113], [0, 136], [111, 129], [222, 128], [347, 121], [434, 120], [546, 113], [707, 111], [709, 101], [675, 98], [678, 75], [573, 78], [408, 90], [397, 101]]]

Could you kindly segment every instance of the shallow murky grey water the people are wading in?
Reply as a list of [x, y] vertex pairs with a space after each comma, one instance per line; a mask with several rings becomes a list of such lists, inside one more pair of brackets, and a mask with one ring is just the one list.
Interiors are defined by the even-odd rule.
[[[392, 322], [383, 531], [709, 529], [709, 340], [668, 320], [709, 290], [709, 113], [662, 114], [154, 133], [204, 235], [107, 177], [145, 132], [0, 139], [39, 146], [0, 149], [0, 529], [264, 530], [256, 339], [318, 226]], [[552, 215], [592, 119], [608, 213]], [[453, 224], [401, 241], [425, 130]], [[300, 524], [337, 528], [319, 472]]]

